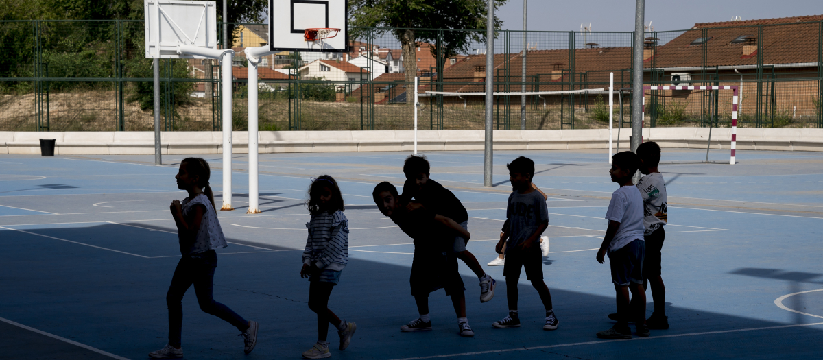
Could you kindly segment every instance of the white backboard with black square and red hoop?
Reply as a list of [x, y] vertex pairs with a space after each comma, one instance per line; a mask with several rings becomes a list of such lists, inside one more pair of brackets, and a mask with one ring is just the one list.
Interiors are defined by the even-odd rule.
[[[268, 46], [271, 51], [345, 53], [348, 0], [268, 0]], [[319, 43], [306, 41], [306, 29], [340, 29]]]

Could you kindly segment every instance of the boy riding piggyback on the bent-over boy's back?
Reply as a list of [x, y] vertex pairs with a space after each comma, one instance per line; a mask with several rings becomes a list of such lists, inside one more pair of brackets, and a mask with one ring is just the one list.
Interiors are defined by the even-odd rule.
[[[423, 155], [409, 155], [403, 164], [406, 182], [403, 184], [401, 201], [411, 203], [412, 199], [421, 203], [435, 214], [443, 215], [468, 229], [468, 212], [453, 192], [429, 178], [430, 164]], [[413, 207], [413, 206], [412, 206]], [[495, 297], [495, 279], [486, 274], [477, 257], [466, 250], [467, 238], [453, 238], [454, 256], [462, 260], [480, 280], [480, 302], [487, 302]]]

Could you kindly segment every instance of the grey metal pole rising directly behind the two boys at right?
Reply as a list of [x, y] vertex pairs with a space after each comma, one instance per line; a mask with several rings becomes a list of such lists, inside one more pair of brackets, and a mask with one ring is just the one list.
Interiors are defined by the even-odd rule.
[[637, 151], [643, 137], [643, 39], [644, 0], [635, 0], [635, 53], [632, 55], [631, 150]]

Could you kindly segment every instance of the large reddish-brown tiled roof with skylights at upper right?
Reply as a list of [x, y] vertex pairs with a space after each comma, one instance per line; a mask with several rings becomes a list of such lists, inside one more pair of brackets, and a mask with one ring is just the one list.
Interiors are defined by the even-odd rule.
[[[757, 25], [763, 28], [763, 63], [786, 64], [817, 62], [818, 24], [797, 24], [804, 21], [821, 21], [823, 16], [797, 16], [778, 19], [723, 21], [699, 23], [691, 30], [658, 45], [657, 67], [700, 67], [701, 51], [706, 46], [706, 65], [708, 66], [742, 66], [756, 65], [757, 54], [744, 54], [746, 44], [732, 44], [732, 40], [744, 35], [756, 39]], [[777, 25], [786, 24], [786, 25]], [[705, 44], [691, 43], [702, 37], [701, 29], [706, 29]], [[666, 33], [658, 33], [666, 34]], [[755, 43], [756, 44], [756, 43]], [[807, 44], [804, 46], [803, 44]], [[750, 44], [754, 45], [754, 44]], [[644, 67], [650, 67], [646, 60]]]

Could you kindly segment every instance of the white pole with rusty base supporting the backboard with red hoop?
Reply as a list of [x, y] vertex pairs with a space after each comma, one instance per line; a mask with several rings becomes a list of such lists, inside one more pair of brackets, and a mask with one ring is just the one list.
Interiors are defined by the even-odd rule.
[[258, 65], [261, 58], [275, 52], [268, 51], [268, 46], [244, 48], [243, 52], [249, 69], [249, 210], [246, 210], [246, 214], [259, 214]]

